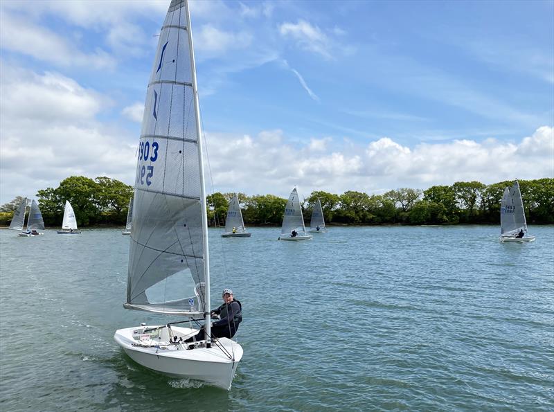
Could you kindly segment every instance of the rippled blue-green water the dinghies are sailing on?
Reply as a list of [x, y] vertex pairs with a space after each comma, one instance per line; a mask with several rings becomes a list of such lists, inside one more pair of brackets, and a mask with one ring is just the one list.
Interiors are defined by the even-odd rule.
[[118, 348], [118, 328], [179, 320], [123, 309], [120, 230], [0, 231], [1, 409], [551, 410], [553, 226], [529, 244], [501, 244], [497, 226], [251, 231], [210, 233], [213, 305], [231, 287], [244, 307], [229, 392]]

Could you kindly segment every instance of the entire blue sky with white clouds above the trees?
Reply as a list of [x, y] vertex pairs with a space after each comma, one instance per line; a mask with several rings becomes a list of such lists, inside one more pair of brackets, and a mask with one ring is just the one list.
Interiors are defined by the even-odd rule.
[[[134, 182], [164, 1], [0, 0], [0, 204]], [[191, 1], [214, 192], [554, 177], [554, 1]]]

